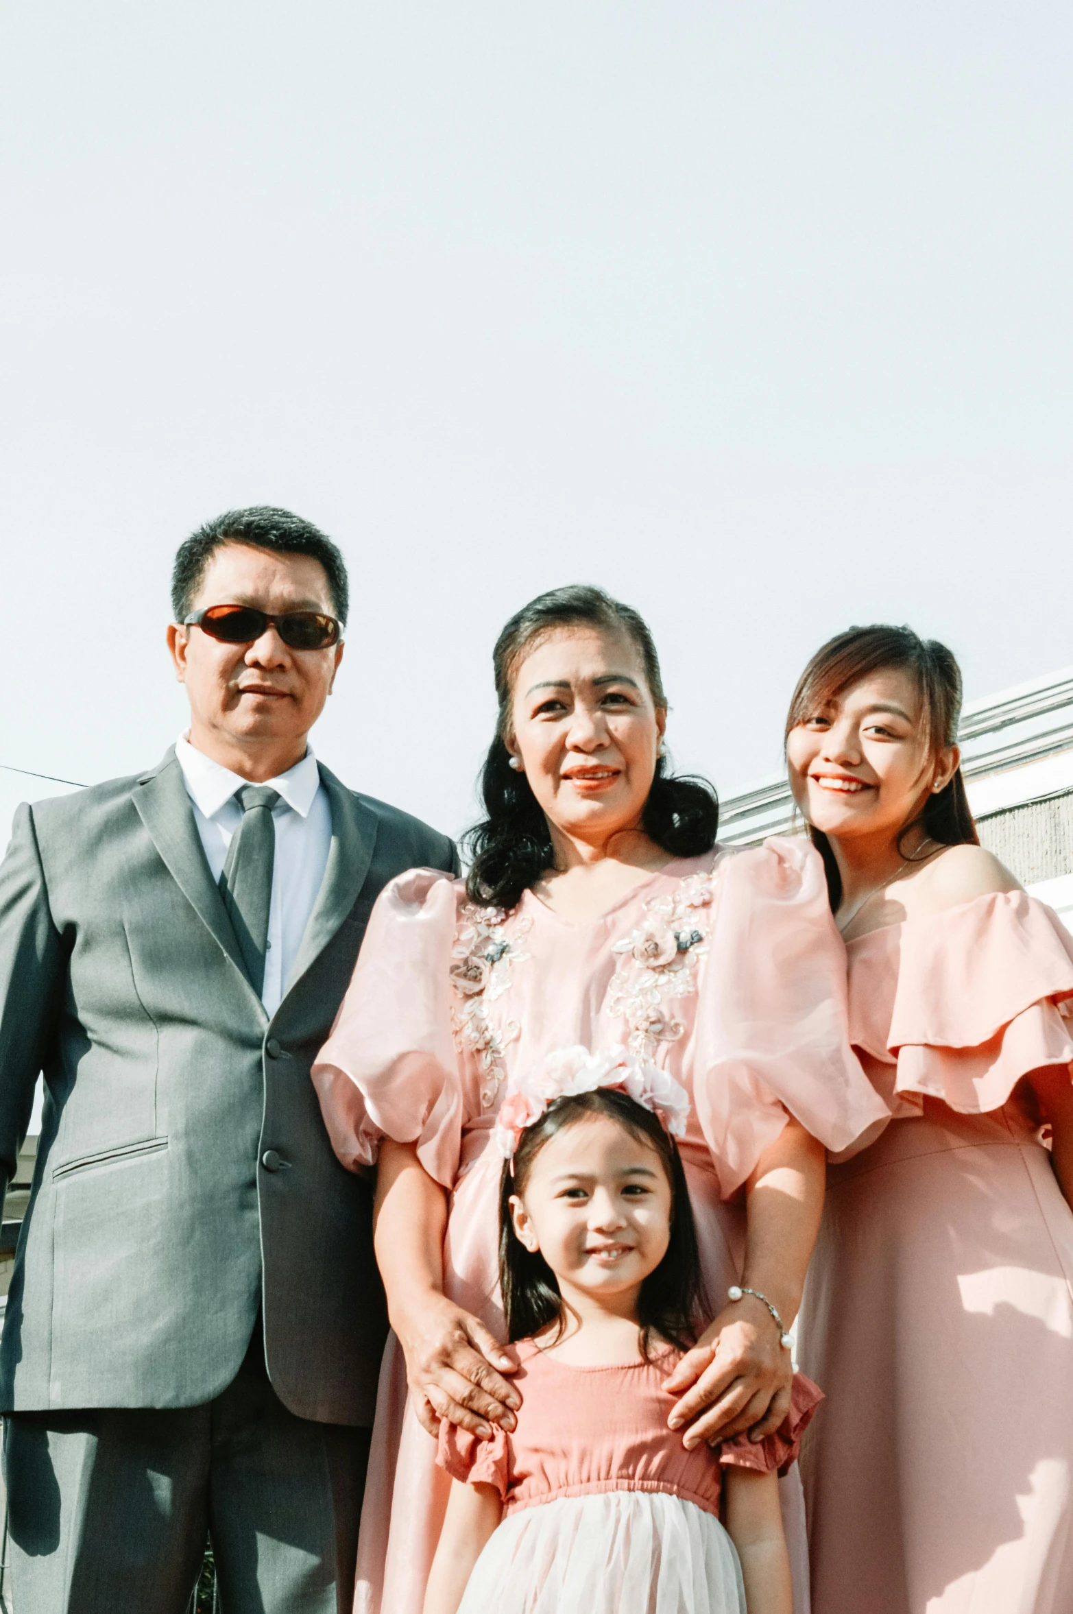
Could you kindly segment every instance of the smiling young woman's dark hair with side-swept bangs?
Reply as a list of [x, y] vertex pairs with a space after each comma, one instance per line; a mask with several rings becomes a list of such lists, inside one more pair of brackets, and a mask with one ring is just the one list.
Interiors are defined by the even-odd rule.
[[[916, 681], [925, 720], [925, 744], [934, 755], [957, 744], [962, 717], [962, 668], [957, 657], [937, 639], [921, 639], [912, 628], [873, 623], [870, 628], [847, 628], [821, 644], [797, 681], [786, 717], [786, 738], [810, 713], [834, 700], [871, 673], [887, 667], [905, 668]], [[979, 846], [976, 822], [965, 794], [960, 767], [944, 789], [929, 794], [925, 805], [899, 834], [899, 849], [910, 830], [921, 826], [941, 846]], [[831, 843], [821, 830], [808, 825], [808, 838], [823, 857], [828, 872], [831, 907], [842, 902], [842, 876]]]

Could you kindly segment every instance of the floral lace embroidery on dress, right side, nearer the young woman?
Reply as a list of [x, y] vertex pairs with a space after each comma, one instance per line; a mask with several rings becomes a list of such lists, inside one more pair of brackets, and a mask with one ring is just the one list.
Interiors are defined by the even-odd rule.
[[660, 1043], [676, 1043], [686, 1031], [671, 1004], [697, 989], [715, 873], [687, 875], [678, 891], [652, 897], [649, 918], [613, 946], [623, 962], [612, 976], [608, 1007], [626, 1020], [629, 1047], [641, 1059], [653, 1059]]

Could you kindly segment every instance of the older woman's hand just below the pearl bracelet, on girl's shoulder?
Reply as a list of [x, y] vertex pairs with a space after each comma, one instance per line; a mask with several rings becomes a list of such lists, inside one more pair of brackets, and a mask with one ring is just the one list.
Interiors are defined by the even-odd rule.
[[686, 1446], [733, 1440], [745, 1428], [750, 1440], [763, 1440], [789, 1411], [792, 1378], [791, 1353], [768, 1309], [745, 1294], [720, 1312], [666, 1380], [663, 1388], [681, 1394], [668, 1424], [689, 1424]]

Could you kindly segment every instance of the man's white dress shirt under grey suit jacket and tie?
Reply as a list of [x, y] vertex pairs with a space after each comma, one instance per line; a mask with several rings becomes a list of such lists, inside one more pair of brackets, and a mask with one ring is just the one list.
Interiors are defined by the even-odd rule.
[[[248, 784], [240, 775], [197, 751], [186, 736], [176, 741], [176, 760], [194, 804], [197, 833], [213, 880], [219, 881], [228, 860], [231, 836], [242, 823], [234, 792]], [[324, 880], [331, 847], [331, 805], [321, 784], [316, 757], [307, 751], [302, 762], [265, 784], [279, 791], [273, 810], [276, 860], [268, 910], [268, 952], [261, 1002], [271, 1017], [282, 1001], [287, 978], [299, 955], [305, 926]]]

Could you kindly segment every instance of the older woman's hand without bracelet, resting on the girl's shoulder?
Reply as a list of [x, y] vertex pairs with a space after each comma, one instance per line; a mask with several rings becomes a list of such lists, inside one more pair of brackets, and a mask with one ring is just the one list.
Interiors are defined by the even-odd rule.
[[392, 1327], [407, 1359], [413, 1411], [429, 1435], [439, 1433], [444, 1417], [479, 1440], [492, 1438], [492, 1424], [515, 1427], [521, 1396], [502, 1377], [515, 1364], [478, 1317], [428, 1290], [407, 1299]]

